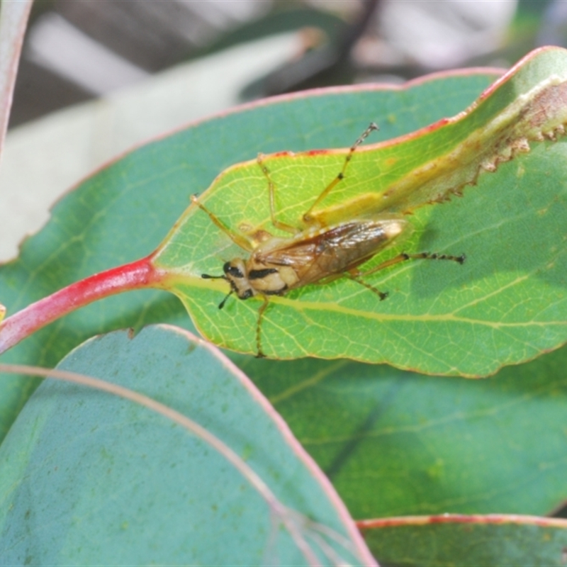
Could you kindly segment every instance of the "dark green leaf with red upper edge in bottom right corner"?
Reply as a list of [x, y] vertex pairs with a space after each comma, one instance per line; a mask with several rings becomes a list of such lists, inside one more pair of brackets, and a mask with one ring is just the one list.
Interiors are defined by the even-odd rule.
[[364, 538], [383, 567], [563, 567], [566, 563], [567, 520], [444, 515], [367, 525]]

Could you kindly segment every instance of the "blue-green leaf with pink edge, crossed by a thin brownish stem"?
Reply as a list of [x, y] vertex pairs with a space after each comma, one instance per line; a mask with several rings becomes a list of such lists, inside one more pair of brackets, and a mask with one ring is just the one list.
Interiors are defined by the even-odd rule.
[[[133, 339], [115, 332], [58, 368], [191, 417], [301, 515], [293, 522], [321, 564], [373, 563], [285, 423], [200, 339], [173, 327], [147, 327]], [[5, 564], [308, 563], [276, 510], [225, 456], [162, 415], [75, 384], [45, 381], [23, 408], [0, 448], [0, 498]]]

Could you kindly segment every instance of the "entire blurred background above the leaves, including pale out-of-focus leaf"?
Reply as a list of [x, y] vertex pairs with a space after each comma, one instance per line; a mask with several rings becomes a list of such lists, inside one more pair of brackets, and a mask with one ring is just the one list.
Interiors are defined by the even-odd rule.
[[69, 186], [193, 120], [318, 86], [510, 67], [549, 44], [567, 44], [565, 0], [36, 0], [0, 168], [0, 261]]

